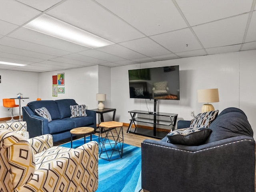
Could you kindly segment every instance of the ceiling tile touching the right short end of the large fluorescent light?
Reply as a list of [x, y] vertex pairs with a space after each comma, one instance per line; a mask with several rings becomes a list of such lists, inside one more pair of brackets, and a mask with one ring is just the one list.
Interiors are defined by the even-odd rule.
[[130, 50], [126, 47], [123, 47], [118, 44], [109, 45], [105, 47], [96, 48], [96, 50], [100, 50], [118, 57], [122, 57], [125, 59], [135, 59], [135, 58], [141, 58], [144, 57], [144, 55], [137, 53], [133, 50]]

